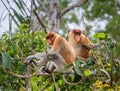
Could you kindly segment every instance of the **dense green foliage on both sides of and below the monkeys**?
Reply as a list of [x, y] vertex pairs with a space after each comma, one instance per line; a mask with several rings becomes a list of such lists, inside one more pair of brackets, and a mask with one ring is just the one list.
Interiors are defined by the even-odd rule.
[[[25, 75], [27, 65], [24, 64], [25, 57], [35, 52], [43, 52], [46, 48], [45, 33], [35, 31], [28, 33], [26, 24], [20, 25], [20, 32], [15, 32], [13, 36], [4, 34], [1, 41], [1, 59], [0, 59], [0, 84], [3, 90], [20, 90], [25, 88], [25, 79], [14, 77], [8, 73], [12, 71], [16, 74]], [[22, 29], [22, 30], [21, 30]], [[60, 90], [108, 90], [119, 89], [120, 62], [114, 58], [114, 43], [104, 33], [94, 35], [95, 40], [105, 40], [106, 45], [93, 51], [94, 58], [88, 58], [87, 62], [76, 61], [75, 70], [77, 74], [87, 77], [86, 80], [79, 85], [67, 85], [62, 76], [54, 74], [57, 89]], [[29, 66], [30, 74], [35, 72], [34, 67]], [[38, 67], [39, 69], [39, 67]], [[72, 81], [69, 80], [69, 81]], [[51, 84], [52, 83], [52, 84]], [[35, 76], [31, 77], [31, 85], [33, 91], [39, 90], [45, 86], [46, 91], [54, 90], [54, 82], [51, 77]], [[21, 90], [20, 90], [21, 91]]]

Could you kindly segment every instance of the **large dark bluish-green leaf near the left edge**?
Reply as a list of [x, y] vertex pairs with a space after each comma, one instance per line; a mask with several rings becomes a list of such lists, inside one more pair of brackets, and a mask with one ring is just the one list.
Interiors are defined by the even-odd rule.
[[10, 55], [7, 52], [3, 52], [2, 59], [3, 59], [3, 64], [5, 66], [5, 69], [7, 69], [7, 70], [10, 69], [11, 61], [12, 61], [12, 58], [10, 57]]

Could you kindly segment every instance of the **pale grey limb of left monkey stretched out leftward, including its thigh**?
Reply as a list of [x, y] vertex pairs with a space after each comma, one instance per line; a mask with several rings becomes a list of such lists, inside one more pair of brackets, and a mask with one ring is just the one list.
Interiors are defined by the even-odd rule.
[[[36, 59], [38, 59], [38, 61], [35, 61]], [[32, 63], [35, 67], [38, 67], [47, 64], [48, 61], [52, 61], [55, 67], [57, 68], [61, 66], [63, 67], [66, 64], [63, 57], [59, 53], [54, 51], [53, 52], [49, 51], [47, 55], [45, 52], [30, 55], [26, 58], [25, 64]]]

